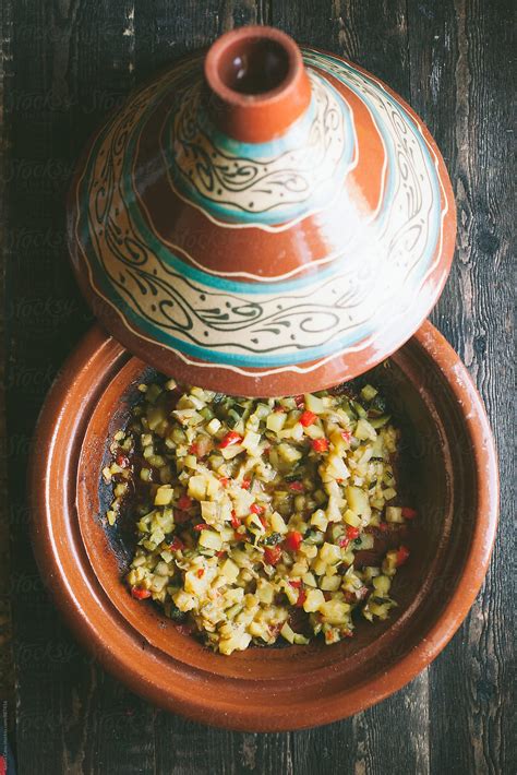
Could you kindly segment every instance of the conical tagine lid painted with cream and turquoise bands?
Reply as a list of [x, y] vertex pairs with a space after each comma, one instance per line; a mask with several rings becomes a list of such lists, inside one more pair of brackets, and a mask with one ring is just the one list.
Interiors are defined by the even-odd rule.
[[71, 189], [100, 323], [180, 382], [313, 392], [398, 349], [435, 305], [456, 213], [411, 108], [269, 27], [227, 33], [130, 95]]

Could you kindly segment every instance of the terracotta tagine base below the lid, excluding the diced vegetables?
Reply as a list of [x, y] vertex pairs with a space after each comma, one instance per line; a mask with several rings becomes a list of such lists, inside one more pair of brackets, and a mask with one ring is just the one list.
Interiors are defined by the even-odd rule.
[[105, 522], [101, 468], [149, 367], [94, 329], [50, 391], [35, 440], [33, 540], [43, 579], [84, 645], [131, 689], [231, 729], [334, 722], [378, 702], [438, 654], [483, 581], [497, 513], [491, 431], [467, 370], [425, 323], [372, 379], [405, 428], [419, 510], [390, 619], [333, 646], [215, 655], [120, 581], [124, 537]]

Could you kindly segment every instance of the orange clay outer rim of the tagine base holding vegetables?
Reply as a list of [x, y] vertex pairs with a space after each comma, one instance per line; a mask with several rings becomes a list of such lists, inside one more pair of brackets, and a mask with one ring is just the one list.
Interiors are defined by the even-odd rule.
[[[296, 707], [277, 707], [272, 702], [268, 713], [261, 714], [253, 702], [236, 706], [217, 693], [211, 694], [208, 704], [202, 685], [206, 678], [199, 670], [190, 670], [185, 675], [182, 665], [176, 670], [178, 680], [169, 680], [168, 685], [164, 687], [159, 672], [163, 664], [160, 655], [134, 632], [127, 632], [122, 618], [91, 572], [84, 547], [79, 547], [76, 551], [72, 549], [75, 564], [71, 564], [67, 557], [74, 540], [73, 520], [69, 518], [65, 534], [56, 533], [56, 512], [49, 499], [52, 488], [55, 491], [67, 489], [60, 482], [68, 482], [70, 488], [70, 482], [74, 481], [74, 462], [79, 458], [82, 442], [80, 426], [84, 396], [77, 394], [77, 391], [81, 392], [81, 378], [84, 379], [88, 371], [100, 374], [91, 389], [89, 398], [95, 400], [95, 394], [115, 373], [121, 358], [125, 360], [130, 357], [99, 329], [87, 334], [65, 363], [41, 412], [35, 445], [45, 454], [34, 455], [29, 492], [33, 545], [40, 573], [74, 633], [105, 668], [148, 701], [191, 719], [236, 730], [284, 731], [315, 726], [314, 719], [317, 719], [316, 725], [323, 725], [363, 711], [404, 687], [437, 656], [467, 616], [484, 580], [497, 524], [498, 474], [490, 425], [467, 369], [431, 323], [425, 322], [414, 339], [446, 377], [453, 396], [464, 407], [464, 421], [471, 444], [478, 488], [477, 518], [462, 573], [440, 619], [425, 639], [382, 673], [330, 701], [318, 696], [306, 705]], [[176, 660], [170, 661], [178, 665]], [[256, 681], [252, 681], [250, 689], [253, 683]], [[196, 687], [201, 690], [199, 693]], [[245, 691], [242, 699], [245, 699]]]

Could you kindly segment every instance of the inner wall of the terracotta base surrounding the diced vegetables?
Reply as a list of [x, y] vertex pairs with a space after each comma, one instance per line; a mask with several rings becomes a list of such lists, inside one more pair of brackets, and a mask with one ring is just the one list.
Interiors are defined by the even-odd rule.
[[221, 677], [260, 676], [261, 680], [285, 676], [287, 665], [291, 677], [339, 666], [344, 677], [361, 680], [373, 665], [380, 667], [401, 658], [423, 637], [461, 574], [476, 493], [467, 486], [468, 439], [458, 407], [443, 374], [422, 361], [421, 355], [407, 345], [369, 375], [386, 395], [394, 421], [401, 428], [399, 490], [418, 510], [406, 541], [410, 560], [392, 587], [398, 607], [384, 622], [360, 621], [352, 639], [333, 646], [316, 641], [309, 646], [254, 647], [231, 657], [205, 648], [153, 604], [134, 600], [122, 583], [134, 539], [123, 520], [112, 527], [107, 523], [110, 488], [104, 482], [101, 469], [110, 458], [113, 433], [124, 427], [131, 406], [141, 396], [137, 385], [156, 377], [136, 358], [122, 365], [96, 402], [86, 428], [76, 505], [92, 568], [111, 604], [135, 633], [164, 655], [191, 667]]

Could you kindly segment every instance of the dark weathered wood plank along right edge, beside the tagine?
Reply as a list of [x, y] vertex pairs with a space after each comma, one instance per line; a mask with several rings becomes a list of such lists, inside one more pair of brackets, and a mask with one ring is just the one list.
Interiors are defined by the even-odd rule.
[[[512, 610], [512, 3], [411, 3], [411, 102], [442, 147], [458, 206], [457, 254], [433, 313], [469, 367], [497, 439], [501, 527], [485, 586], [432, 666], [432, 773], [515, 771]], [[514, 44], [515, 48], [515, 44]], [[454, 712], [452, 712], [454, 708]], [[512, 761], [514, 764], [512, 765]]]

